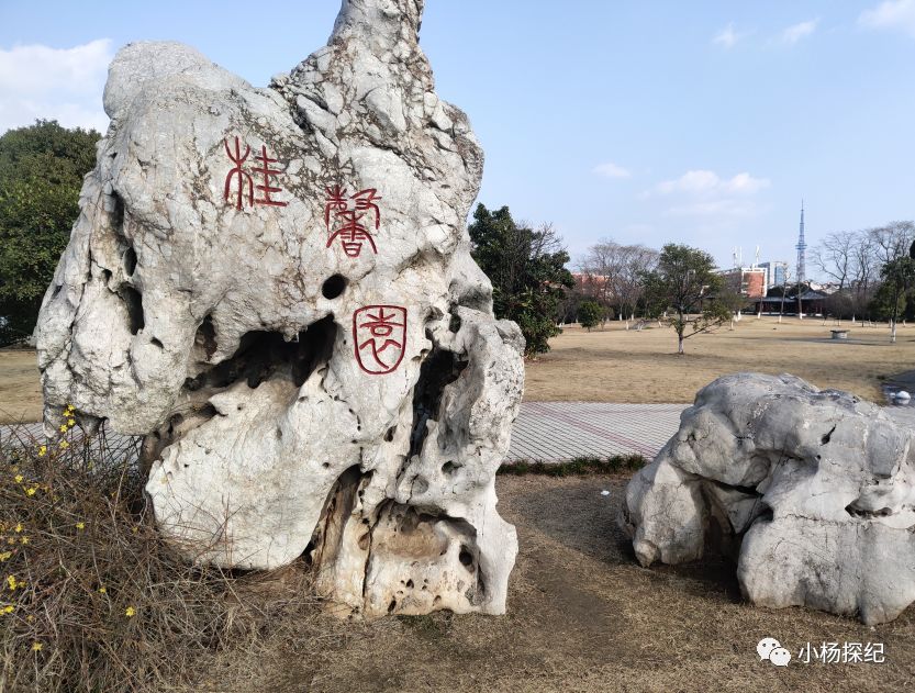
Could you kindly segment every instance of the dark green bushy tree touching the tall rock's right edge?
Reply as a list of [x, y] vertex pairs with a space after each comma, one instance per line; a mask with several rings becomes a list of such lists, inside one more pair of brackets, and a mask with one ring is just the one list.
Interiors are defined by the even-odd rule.
[[549, 224], [535, 230], [515, 223], [507, 206], [490, 212], [482, 204], [468, 231], [473, 259], [492, 282], [496, 317], [518, 324], [526, 356], [549, 351], [548, 339], [562, 332], [559, 303], [574, 286], [559, 235]]

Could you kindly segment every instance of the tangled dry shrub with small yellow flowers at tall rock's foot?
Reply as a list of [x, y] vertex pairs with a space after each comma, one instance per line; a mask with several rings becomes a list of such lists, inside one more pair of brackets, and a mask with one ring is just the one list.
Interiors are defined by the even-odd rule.
[[267, 635], [316, 652], [304, 563], [241, 573], [185, 562], [156, 532], [133, 440], [120, 439], [4, 434], [0, 691], [197, 691], [220, 652], [254, 660]]

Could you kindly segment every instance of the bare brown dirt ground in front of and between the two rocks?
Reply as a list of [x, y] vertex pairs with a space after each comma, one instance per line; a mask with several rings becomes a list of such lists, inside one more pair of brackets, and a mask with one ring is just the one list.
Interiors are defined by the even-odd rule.
[[[863, 626], [740, 599], [734, 567], [707, 559], [643, 569], [616, 528], [626, 479], [499, 477], [500, 512], [521, 551], [505, 616], [386, 618], [328, 626], [336, 639], [277, 642], [256, 666], [234, 653], [201, 691], [906, 691], [915, 684], [915, 610]], [[602, 490], [610, 490], [602, 496]], [[561, 511], [557, 512], [557, 508]], [[785, 668], [760, 661], [774, 637]], [[803, 663], [811, 642], [883, 644], [884, 663]], [[319, 652], [319, 653], [315, 653]]]

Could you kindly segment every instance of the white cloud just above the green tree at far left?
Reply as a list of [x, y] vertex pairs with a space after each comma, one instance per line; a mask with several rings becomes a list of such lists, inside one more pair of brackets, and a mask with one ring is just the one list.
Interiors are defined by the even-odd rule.
[[109, 38], [72, 48], [0, 48], [0, 133], [36, 119], [104, 131], [102, 90], [112, 57]]

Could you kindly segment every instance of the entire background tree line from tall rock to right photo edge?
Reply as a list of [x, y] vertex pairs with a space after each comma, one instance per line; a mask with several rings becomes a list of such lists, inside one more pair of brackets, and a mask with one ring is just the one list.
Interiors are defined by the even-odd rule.
[[[470, 225], [473, 257], [493, 284], [499, 317], [514, 320], [527, 339], [527, 355], [549, 350], [548, 339], [565, 323], [591, 329], [609, 320], [638, 318], [666, 323], [684, 340], [713, 331], [749, 308], [739, 278], [727, 280], [700, 248], [667, 244], [660, 250], [641, 244], [604, 239], [577, 265], [551, 225], [515, 223], [509, 208], [490, 212], [482, 204]], [[915, 224], [893, 222], [859, 232], [829, 234], [814, 249], [813, 265], [836, 284], [826, 299], [834, 317], [886, 320], [891, 340], [896, 324], [915, 318]], [[910, 257], [910, 248], [913, 257]], [[791, 282], [768, 295], [781, 297], [781, 310], [797, 305], [810, 282]]]

